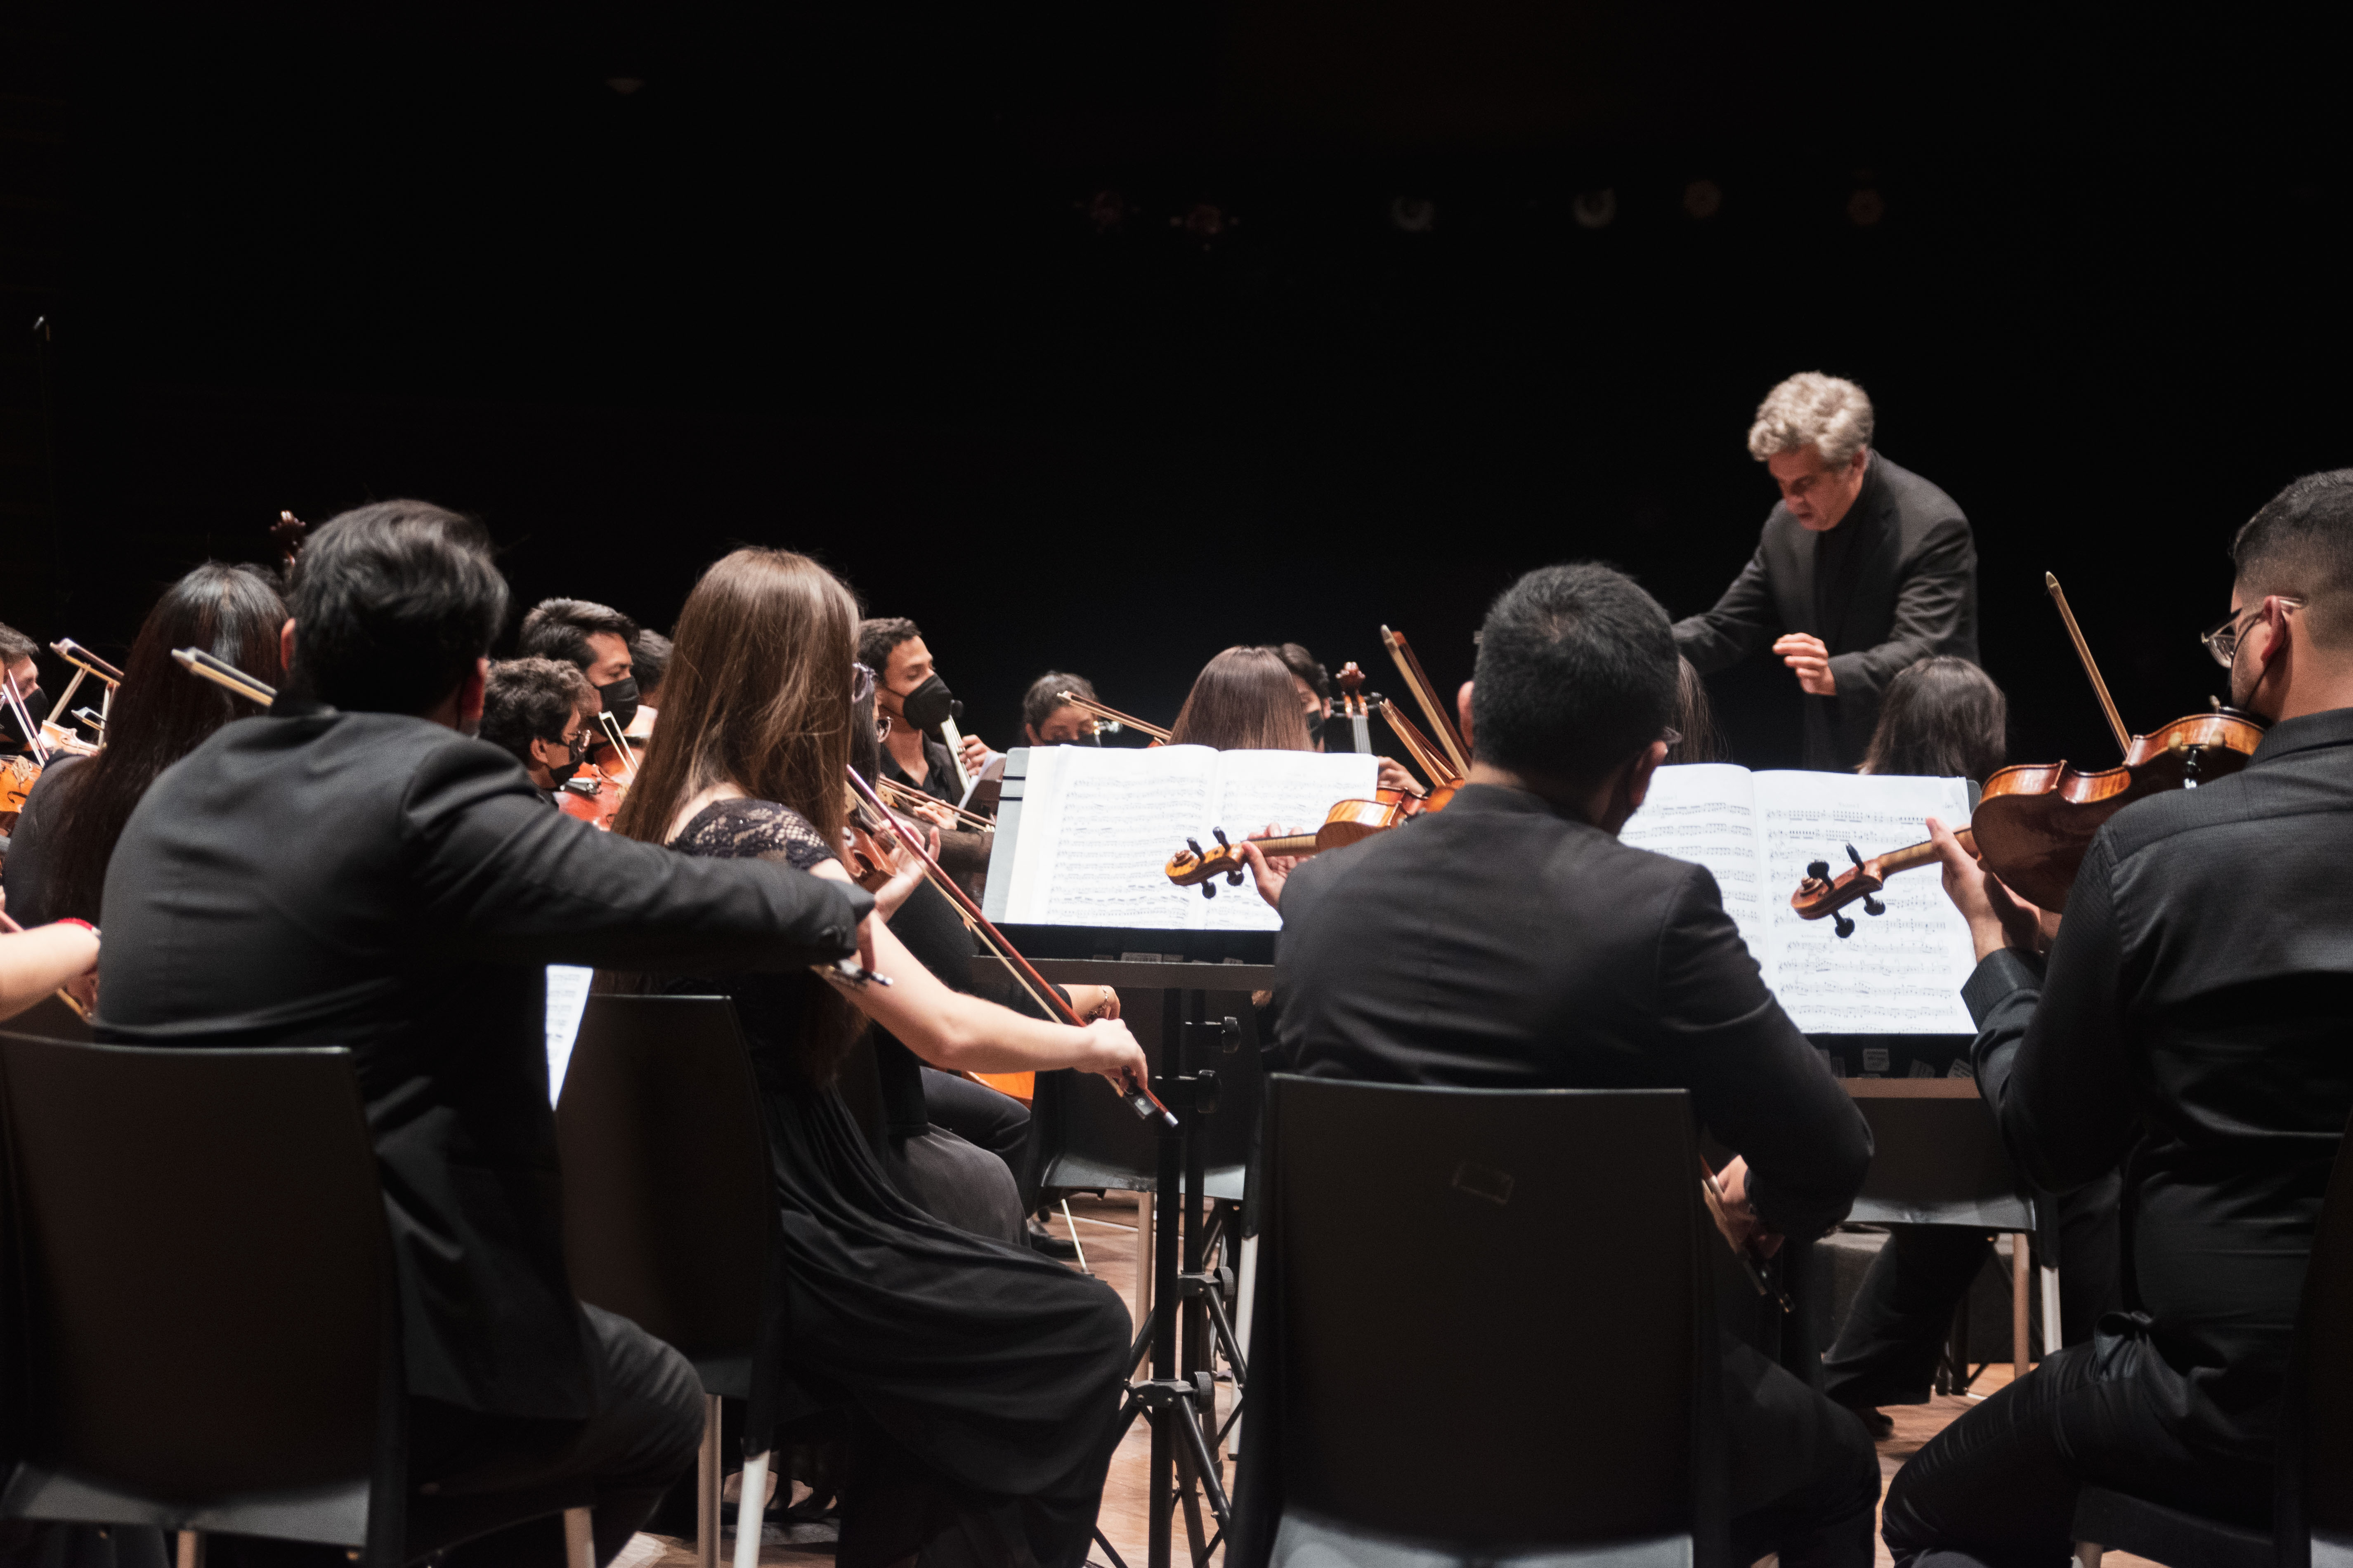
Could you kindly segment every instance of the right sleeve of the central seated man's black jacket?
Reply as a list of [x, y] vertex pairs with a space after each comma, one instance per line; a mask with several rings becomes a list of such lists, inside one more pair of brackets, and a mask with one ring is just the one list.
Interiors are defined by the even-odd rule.
[[1689, 867], [1659, 931], [1654, 1009], [1699, 1119], [1748, 1159], [1767, 1227], [1809, 1239], [1847, 1218], [1871, 1168], [1871, 1126], [1765, 990], [1704, 865]]

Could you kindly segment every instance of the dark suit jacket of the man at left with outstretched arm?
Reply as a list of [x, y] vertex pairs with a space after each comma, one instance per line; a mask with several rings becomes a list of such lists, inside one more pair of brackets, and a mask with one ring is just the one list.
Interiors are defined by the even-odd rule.
[[426, 719], [282, 701], [167, 769], [122, 830], [99, 1032], [348, 1046], [409, 1392], [584, 1418], [546, 964], [791, 969], [854, 952], [868, 907], [786, 865], [598, 832], [504, 750]]

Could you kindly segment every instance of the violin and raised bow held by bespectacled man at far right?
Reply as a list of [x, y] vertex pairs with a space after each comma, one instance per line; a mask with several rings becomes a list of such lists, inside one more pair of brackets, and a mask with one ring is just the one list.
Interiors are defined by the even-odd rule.
[[[2097, 771], [2066, 762], [2007, 766], [1986, 780], [1960, 842], [2019, 898], [2045, 910], [2066, 910], [2075, 872], [2082, 870], [2082, 858], [2092, 849], [2092, 835], [2111, 816], [2148, 795], [2195, 790], [2240, 771], [2254, 757], [2254, 748], [2264, 743], [2266, 719], [2226, 708], [2221, 698], [2214, 698], [2209, 712], [2193, 712], [2146, 736], [2127, 733], [2125, 719], [2108, 696], [2108, 684], [2092, 661], [2092, 649], [2082, 639], [2082, 628], [2075, 625], [2075, 611], [2068, 609], [2066, 590], [2047, 571], [2042, 585], [2066, 621], [2082, 670], [2092, 679], [2092, 693], [2099, 698], [2125, 759], [2113, 769]], [[1866, 914], [1878, 914], [1875, 893], [1887, 884], [1887, 877], [1934, 863], [1937, 846], [1906, 844], [1866, 860], [1847, 844], [1847, 858], [1854, 865], [1835, 882], [1826, 860], [1807, 865], [1805, 879], [1791, 893], [1791, 912], [1800, 919], [1824, 919], [1859, 900]], [[1838, 914], [1838, 936], [1849, 931], [1854, 931], [1854, 922]]]

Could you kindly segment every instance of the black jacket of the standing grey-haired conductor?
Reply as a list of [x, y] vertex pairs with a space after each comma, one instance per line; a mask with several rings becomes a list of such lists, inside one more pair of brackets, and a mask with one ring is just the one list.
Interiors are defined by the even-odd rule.
[[1838, 696], [1805, 698], [1805, 766], [1849, 771], [1880, 722], [1880, 693], [1904, 665], [1929, 654], [1977, 663], [1969, 520], [1880, 451], [1828, 534], [1774, 503], [1748, 567], [1715, 609], [1675, 623], [1675, 646], [1711, 675], [1786, 632], [1821, 637], [1838, 684]]

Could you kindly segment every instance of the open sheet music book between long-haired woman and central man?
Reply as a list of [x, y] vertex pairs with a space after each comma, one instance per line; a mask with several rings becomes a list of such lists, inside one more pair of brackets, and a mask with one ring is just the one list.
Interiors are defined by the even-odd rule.
[[1214, 827], [1235, 842], [1268, 823], [1313, 832], [1334, 804], [1372, 799], [1379, 771], [1358, 752], [1016, 750], [984, 910], [1026, 926], [1278, 931], [1282, 917], [1254, 884], [1219, 882], [1217, 898], [1202, 898], [1167, 879], [1169, 856], [1188, 837], [1209, 844]]

